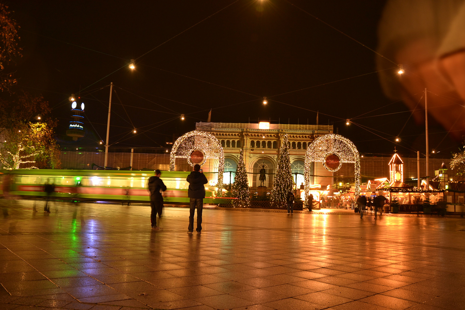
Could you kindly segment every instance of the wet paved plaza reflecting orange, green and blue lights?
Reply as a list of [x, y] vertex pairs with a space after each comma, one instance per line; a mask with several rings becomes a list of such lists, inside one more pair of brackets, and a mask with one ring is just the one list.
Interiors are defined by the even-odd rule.
[[465, 309], [463, 218], [0, 203], [2, 310]]

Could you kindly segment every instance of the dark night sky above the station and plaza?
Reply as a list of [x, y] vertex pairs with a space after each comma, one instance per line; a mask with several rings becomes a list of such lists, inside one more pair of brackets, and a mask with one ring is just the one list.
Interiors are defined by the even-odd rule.
[[[21, 26], [18, 89], [43, 94], [54, 107], [62, 146], [105, 140], [113, 82], [112, 148], [164, 146], [173, 133], [206, 121], [212, 108], [213, 122], [234, 123], [315, 124], [319, 111], [319, 124], [332, 122], [361, 153], [424, 153], [424, 121], [409, 119], [402, 102], [371, 112], [395, 101], [374, 73], [379, 56], [291, 3], [376, 49], [381, 0], [16, 0], [8, 5]], [[66, 136], [72, 93], [86, 105], [86, 137], [77, 142]], [[402, 113], [383, 115], [392, 112]], [[460, 141], [429, 121], [430, 147], [442, 156], [457, 151]]]

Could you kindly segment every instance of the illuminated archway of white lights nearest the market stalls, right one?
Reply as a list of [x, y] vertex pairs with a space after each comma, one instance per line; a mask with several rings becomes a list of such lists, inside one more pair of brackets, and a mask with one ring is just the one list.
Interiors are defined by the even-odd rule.
[[355, 164], [355, 197], [360, 194], [360, 155], [351, 140], [337, 134], [327, 134], [315, 139], [305, 155], [305, 198], [310, 190], [310, 166], [322, 163], [328, 171], [338, 171], [342, 163]]

